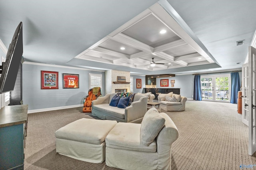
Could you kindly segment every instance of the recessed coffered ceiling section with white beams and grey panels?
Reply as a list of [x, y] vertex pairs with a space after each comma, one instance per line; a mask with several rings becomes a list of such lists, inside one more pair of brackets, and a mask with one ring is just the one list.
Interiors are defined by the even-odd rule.
[[158, 3], [76, 58], [150, 71], [218, 64]]

